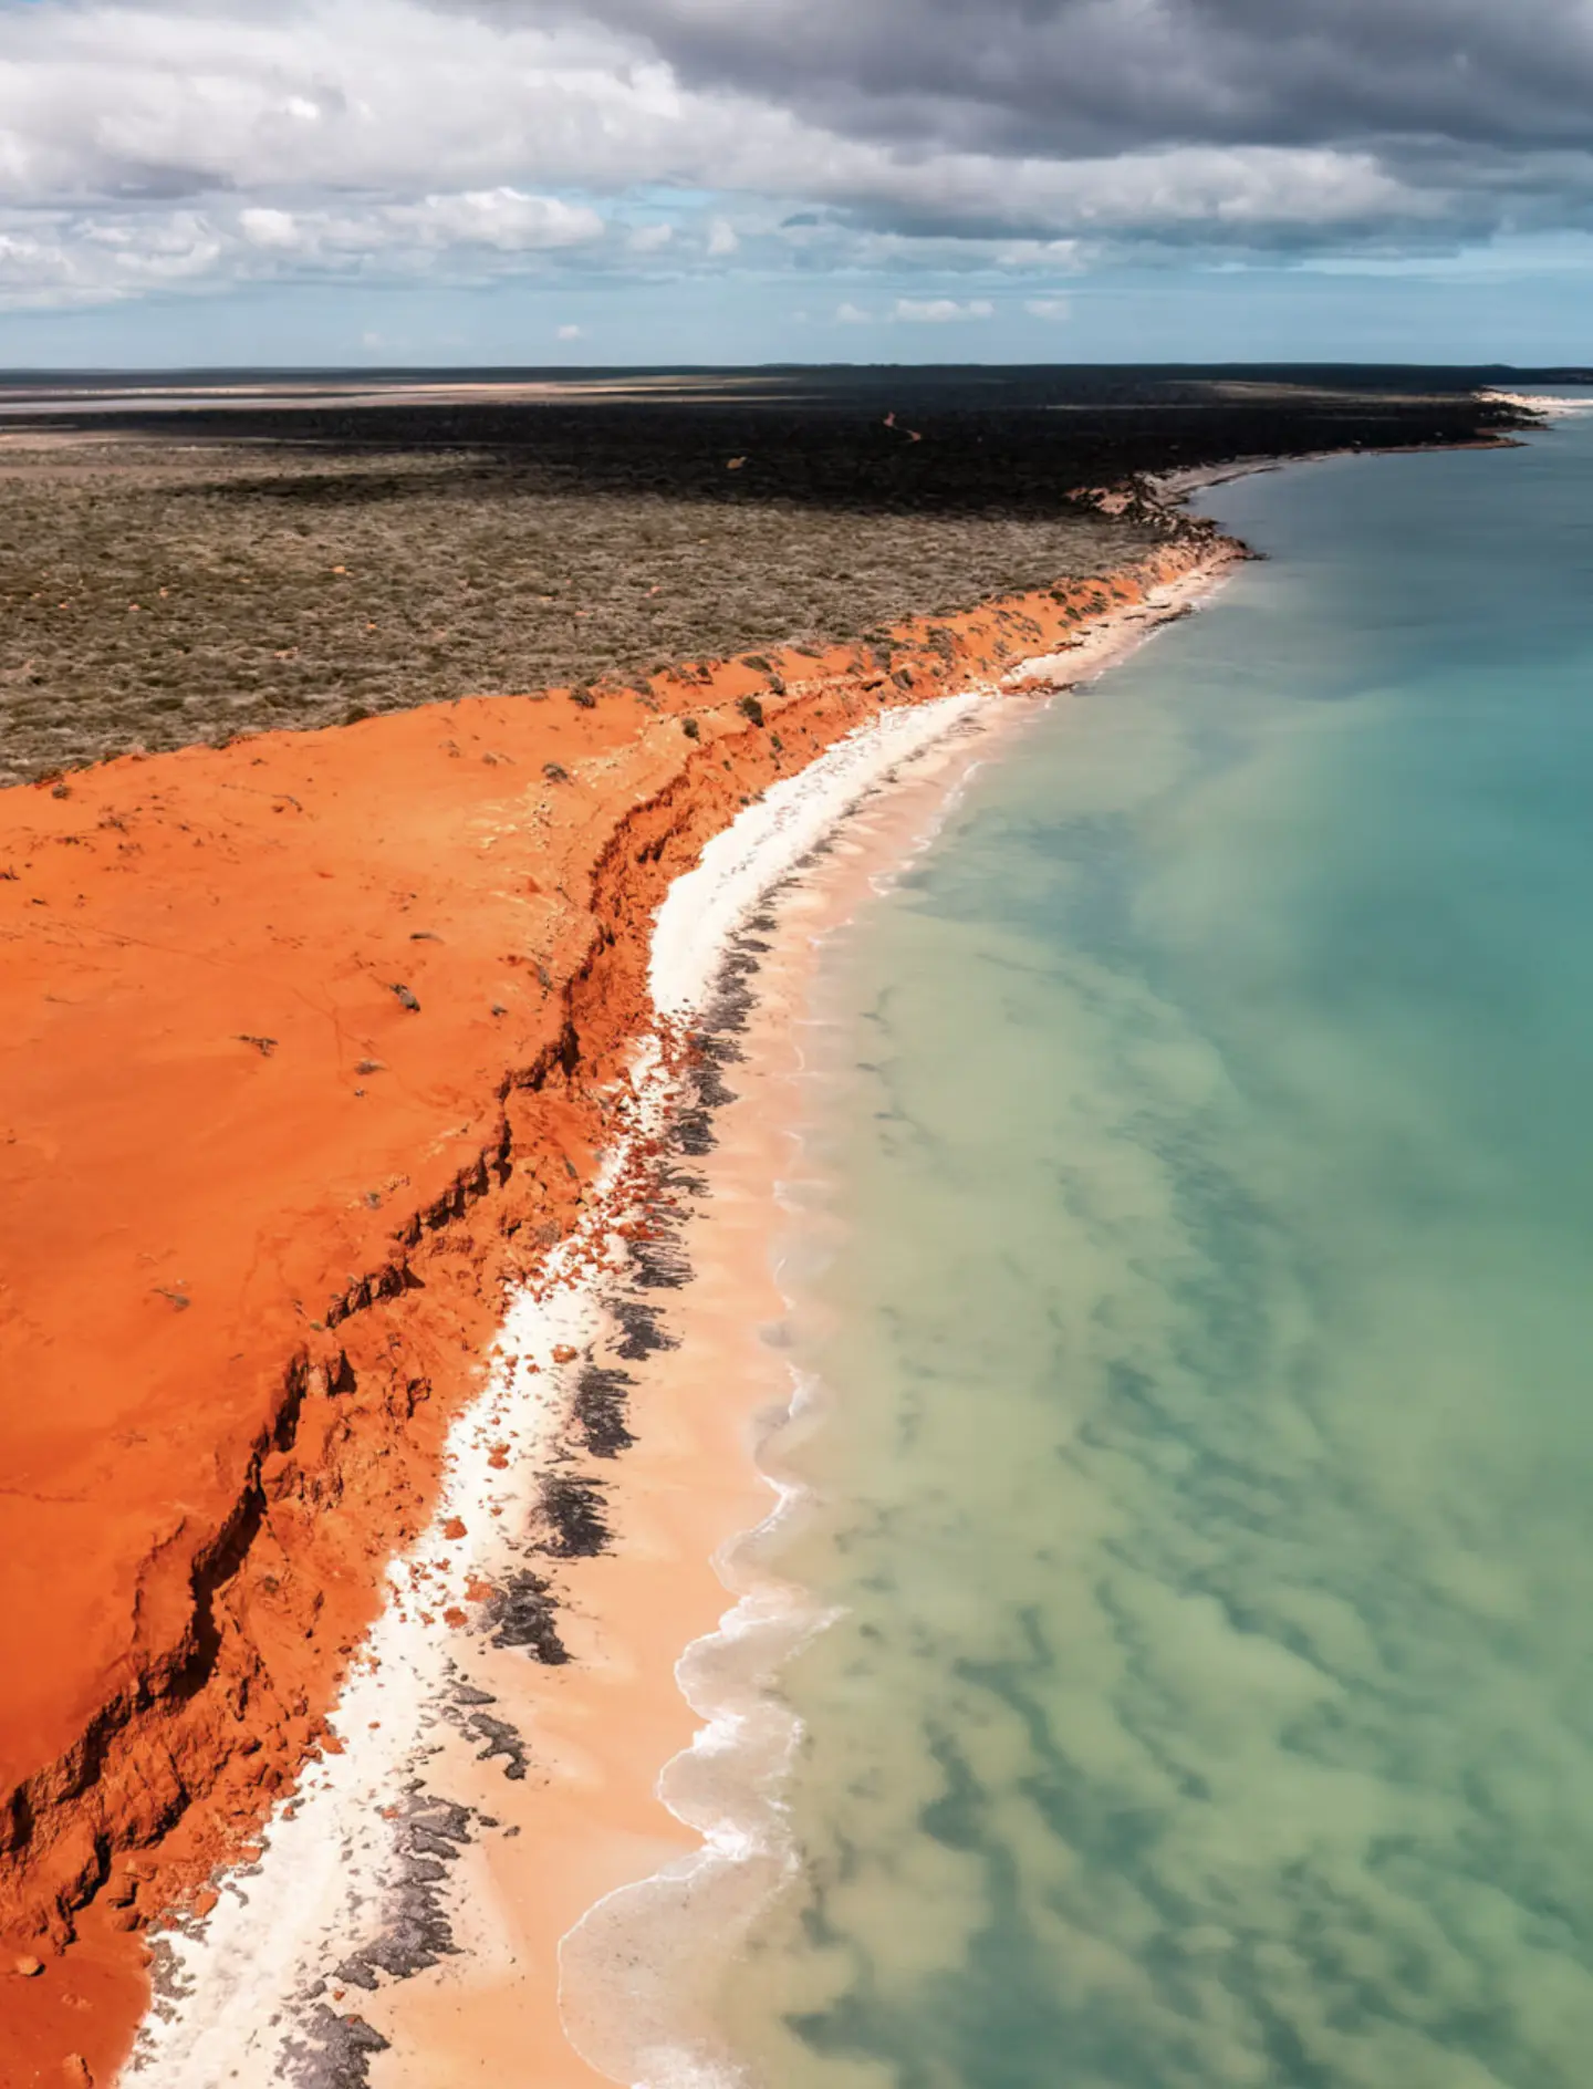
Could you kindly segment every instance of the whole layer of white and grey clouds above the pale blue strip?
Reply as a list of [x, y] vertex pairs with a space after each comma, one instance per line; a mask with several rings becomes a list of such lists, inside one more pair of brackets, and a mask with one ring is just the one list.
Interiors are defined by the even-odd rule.
[[1436, 251], [1589, 111], [1585, 0], [0, 0], [0, 299]]

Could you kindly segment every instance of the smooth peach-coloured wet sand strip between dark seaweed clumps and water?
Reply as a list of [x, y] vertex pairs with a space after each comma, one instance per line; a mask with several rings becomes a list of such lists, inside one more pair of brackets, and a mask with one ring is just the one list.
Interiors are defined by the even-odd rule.
[[[649, 1362], [633, 1398], [637, 1443], [618, 1479], [614, 1550], [582, 1563], [562, 1613], [572, 1663], [512, 1671], [499, 1657], [503, 1715], [524, 1721], [541, 1782], [505, 1799], [493, 1769], [457, 1765], [463, 1776], [449, 1790], [522, 1832], [484, 1840], [455, 1872], [461, 1957], [365, 2005], [393, 2043], [372, 2066], [376, 2089], [509, 2079], [574, 2089], [608, 2079], [566, 2039], [557, 1945], [595, 1901], [699, 1847], [660, 1801], [658, 1778], [699, 1728], [674, 1669], [727, 1609], [714, 1558], [775, 1502], [754, 1446], [791, 1398], [777, 1243], [789, 1216], [783, 1182], [795, 1159], [818, 942], [910, 852], [975, 758], [969, 742], [921, 758], [877, 808], [846, 821], [779, 907], [739, 1038], [745, 1057], [729, 1070], [735, 1101], [714, 1118], [716, 1147], [699, 1164], [704, 1195], [683, 1235], [693, 1276], [668, 1316], [681, 1345]], [[601, 2001], [578, 1997], [574, 2028], [589, 2051], [620, 2031], [597, 2020]]]

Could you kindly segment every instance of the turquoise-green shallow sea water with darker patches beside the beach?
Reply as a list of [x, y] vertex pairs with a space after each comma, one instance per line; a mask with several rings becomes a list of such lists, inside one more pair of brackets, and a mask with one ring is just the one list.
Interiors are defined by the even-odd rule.
[[1593, 420], [1207, 506], [823, 982], [779, 2089], [1593, 2081]]

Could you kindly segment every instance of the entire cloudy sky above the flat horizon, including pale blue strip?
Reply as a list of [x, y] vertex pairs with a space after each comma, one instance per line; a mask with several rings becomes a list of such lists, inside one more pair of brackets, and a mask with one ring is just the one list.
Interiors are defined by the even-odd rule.
[[1593, 0], [0, 0], [0, 370], [1593, 359]]

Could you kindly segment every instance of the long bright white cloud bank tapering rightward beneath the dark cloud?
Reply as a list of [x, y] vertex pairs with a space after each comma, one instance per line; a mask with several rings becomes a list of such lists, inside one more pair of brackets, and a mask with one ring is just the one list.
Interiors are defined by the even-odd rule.
[[768, 96], [685, 86], [643, 40], [591, 17], [524, 25], [422, 0], [301, 0], [253, 19], [192, 0], [33, 0], [4, 25], [0, 205], [664, 184], [800, 198], [881, 226], [906, 213], [944, 234], [988, 236], [1004, 219], [1040, 242], [1439, 211], [1359, 148], [904, 155]]

